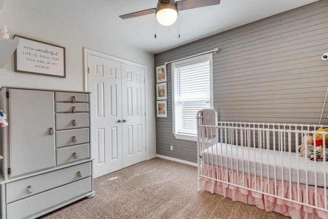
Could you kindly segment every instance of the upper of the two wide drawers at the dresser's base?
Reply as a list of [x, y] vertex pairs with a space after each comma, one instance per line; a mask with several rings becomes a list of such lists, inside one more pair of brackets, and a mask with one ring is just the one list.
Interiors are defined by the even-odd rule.
[[[88, 176], [91, 176], [91, 162], [7, 183], [6, 202], [11, 203]], [[30, 193], [28, 192], [29, 186]]]

